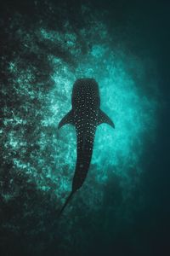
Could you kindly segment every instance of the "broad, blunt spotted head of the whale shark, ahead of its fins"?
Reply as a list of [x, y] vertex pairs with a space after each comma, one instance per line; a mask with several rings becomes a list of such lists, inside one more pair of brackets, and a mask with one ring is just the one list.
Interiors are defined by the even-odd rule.
[[72, 103], [83, 99], [94, 98], [99, 100], [99, 85], [95, 79], [77, 79], [73, 84]]

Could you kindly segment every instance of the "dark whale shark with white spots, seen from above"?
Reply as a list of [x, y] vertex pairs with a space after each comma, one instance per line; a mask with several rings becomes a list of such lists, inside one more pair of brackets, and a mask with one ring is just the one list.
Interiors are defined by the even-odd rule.
[[65, 209], [72, 195], [82, 187], [92, 159], [94, 136], [98, 125], [107, 123], [115, 128], [111, 119], [99, 108], [99, 85], [94, 79], [77, 79], [72, 90], [72, 109], [59, 122], [58, 129], [66, 124], [74, 125], [77, 131], [77, 165], [71, 194], [61, 208]]

